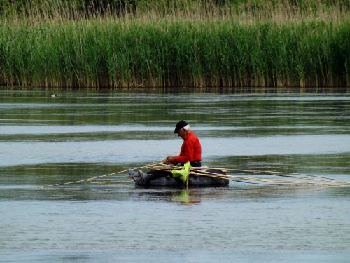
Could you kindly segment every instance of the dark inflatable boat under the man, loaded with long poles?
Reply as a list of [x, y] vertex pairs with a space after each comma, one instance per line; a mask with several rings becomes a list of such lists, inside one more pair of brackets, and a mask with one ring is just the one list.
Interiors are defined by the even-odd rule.
[[[146, 175], [146, 182], [134, 171], [130, 170], [130, 175], [135, 181], [137, 186], [150, 186], [150, 187], [183, 187], [185, 183], [179, 178], [172, 177], [171, 172], [151, 170]], [[225, 172], [222, 170], [207, 170], [206, 173], [214, 173], [220, 175], [193, 175], [188, 177], [189, 187], [224, 187], [229, 183]], [[221, 176], [222, 175], [222, 176]]]

